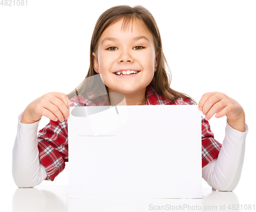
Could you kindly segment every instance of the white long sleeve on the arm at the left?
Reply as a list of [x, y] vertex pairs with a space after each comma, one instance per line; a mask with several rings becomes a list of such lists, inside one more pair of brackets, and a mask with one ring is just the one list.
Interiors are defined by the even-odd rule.
[[12, 176], [18, 187], [33, 187], [46, 179], [46, 169], [39, 163], [37, 128], [39, 121], [32, 124], [20, 123], [12, 150]]

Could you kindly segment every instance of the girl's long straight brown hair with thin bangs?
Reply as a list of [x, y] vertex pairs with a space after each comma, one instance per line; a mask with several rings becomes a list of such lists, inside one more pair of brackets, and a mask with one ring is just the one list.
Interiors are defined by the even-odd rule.
[[[150, 32], [154, 37], [155, 49], [158, 55], [158, 64], [157, 64], [157, 71], [155, 72], [153, 80], [151, 81], [150, 85], [153, 87], [156, 93], [158, 95], [166, 97], [171, 101], [175, 101], [178, 98], [188, 98], [194, 101], [191, 97], [187, 96], [186, 94], [177, 92], [170, 88], [171, 73], [168, 67], [168, 63], [162, 51], [162, 40], [157, 27], [156, 20], [150, 11], [148, 11], [146, 8], [140, 5], [135, 7], [130, 7], [127, 5], [115, 6], [106, 10], [100, 15], [95, 25], [92, 39], [91, 39], [89, 71], [87, 73], [86, 78], [79, 84], [77, 89], [69, 93], [68, 96], [74, 97], [75, 95], [79, 94], [85, 98], [90, 99], [90, 95], [96, 94], [96, 96], [101, 96], [101, 98], [103, 98], [104, 100], [106, 101], [108, 100], [106, 98], [106, 95], [104, 95], [103, 93], [105, 89], [107, 91], [108, 89], [106, 87], [104, 88], [104, 84], [102, 83], [102, 81], [100, 82], [100, 78], [97, 77], [97, 79], [95, 79], [94, 77], [91, 77], [91, 76], [97, 75], [97, 73], [93, 69], [92, 53], [96, 52], [97, 50], [97, 42], [102, 32], [107, 27], [115, 24], [121, 18], [123, 18], [122, 26], [126, 26], [127, 24], [129, 24], [131, 19], [133, 20], [133, 18], [138, 18], [145, 24], [145, 26], [148, 28], [148, 30], [150, 30]], [[167, 76], [165, 66], [170, 73], [169, 78]]]

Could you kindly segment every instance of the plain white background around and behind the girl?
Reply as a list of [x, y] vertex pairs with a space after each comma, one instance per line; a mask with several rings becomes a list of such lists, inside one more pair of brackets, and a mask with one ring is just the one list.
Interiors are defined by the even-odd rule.
[[[18, 114], [35, 98], [52, 91], [67, 94], [83, 80], [98, 17], [122, 4], [140, 4], [155, 17], [173, 89], [197, 102], [212, 91], [240, 102], [250, 131], [241, 180], [234, 192], [241, 199], [244, 189], [254, 186], [255, 1], [28, 0], [28, 6], [0, 5], [1, 182], [8, 187], [6, 204], [17, 188], [11, 161]], [[43, 118], [38, 130], [48, 122]], [[222, 142], [226, 118], [212, 118], [210, 125]], [[53, 182], [43, 183], [67, 184], [66, 164]], [[203, 186], [208, 185], [203, 182]]]

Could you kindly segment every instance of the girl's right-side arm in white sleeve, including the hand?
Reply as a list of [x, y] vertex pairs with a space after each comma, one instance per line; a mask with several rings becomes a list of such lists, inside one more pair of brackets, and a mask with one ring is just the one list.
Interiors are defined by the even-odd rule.
[[226, 115], [226, 134], [218, 158], [203, 167], [206, 182], [223, 191], [233, 190], [240, 179], [245, 154], [245, 137], [248, 132], [245, 113], [234, 99], [220, 92], [206, 93], [198, 105], [199, 110], [209, 120]]

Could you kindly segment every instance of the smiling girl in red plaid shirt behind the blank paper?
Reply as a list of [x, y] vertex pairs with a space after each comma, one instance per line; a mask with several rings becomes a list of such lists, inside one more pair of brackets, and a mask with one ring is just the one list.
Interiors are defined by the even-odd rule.
[[[19, 115], [13, 147], [13, 178], [18, 187], [51, 180], [68, 162], [67, 118], [70, 106], [115, 105], [111, 93], [120, 93], [127, 105], [195, 104], [189, 96], [170, 89], [160, 33], [152, 14], [142, 6], [116, 6], [98, 19], [91, 40], [86, 78], [69, 95], [47, 93]], [[94, 79], [101, 74], [100, 82]], [[108, 95], [102, 95], [106, 89]], [[112, 104], [111, 104], [112, 102]], [[233, 190], [240, 179], [248, 129], [241, 105], [223, 93], [202, 96], [202, 173], [207, 183]], [[223, 144], [214, 139], [208, 120], [227, 117]], [[50, 123], [40, 130], [42, 116]]]

